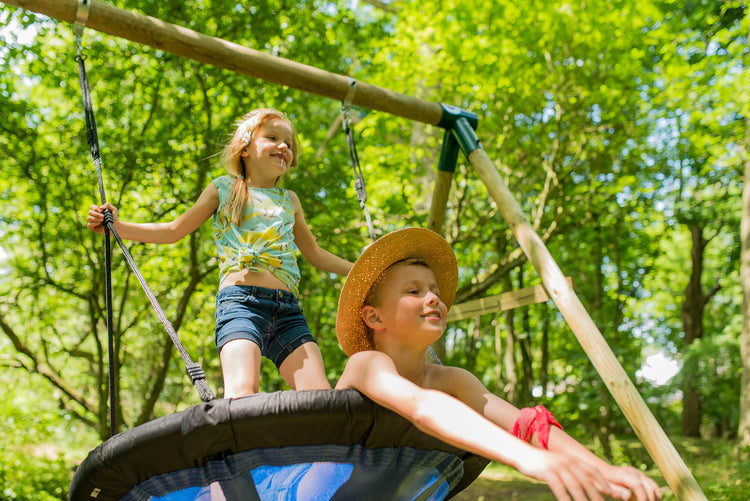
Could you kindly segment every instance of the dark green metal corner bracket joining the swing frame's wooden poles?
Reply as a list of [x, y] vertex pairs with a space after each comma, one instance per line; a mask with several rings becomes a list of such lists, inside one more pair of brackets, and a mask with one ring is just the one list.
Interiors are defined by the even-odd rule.
[[440, 106], [443, 108], [443, 117], [438, 125], [445, 129], [445, 136], [443, 137], [443, 148], [440, 151], [438, 170], [455, 172], [459, 148], [464, 152], [464, 155], [469, 156], [472, 151], [482, 147], [474, 132], [478, 119], [474, 113], [457, 106], [449, 104], [441, 104]]

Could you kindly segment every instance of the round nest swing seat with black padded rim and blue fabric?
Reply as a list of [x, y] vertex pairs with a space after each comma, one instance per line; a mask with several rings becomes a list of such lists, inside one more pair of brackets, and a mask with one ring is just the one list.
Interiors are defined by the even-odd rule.
[[91, 451], [70, 501], [442, 500], [489, 461], [355, 390], [212, 400]]

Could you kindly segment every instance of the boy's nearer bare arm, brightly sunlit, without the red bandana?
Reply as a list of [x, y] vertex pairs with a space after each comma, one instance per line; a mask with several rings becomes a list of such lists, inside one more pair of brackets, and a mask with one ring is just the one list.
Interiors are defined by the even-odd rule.
[[600, 493], [629, 498], [626, 489], [612, 485], [588, 463], [532, 447], [458, 399], [417, 386], [398, 374], [393, 361], [383, 353], [352, 355], [336, 388], [357, 389], [443, 442], [542, 480], [558, 499], [602, 500]]

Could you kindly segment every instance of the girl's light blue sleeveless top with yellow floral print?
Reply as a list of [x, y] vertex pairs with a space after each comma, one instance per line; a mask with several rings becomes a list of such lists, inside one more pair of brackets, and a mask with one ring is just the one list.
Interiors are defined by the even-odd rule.
[[214, 179], [219, 208], [214, 213], [214, 241], [219, 257], [219, 283], [241, 270], [270, 271], [296, 296], [300, 272], [294, 244], [294, 208], [289, 193], [281, 188], [248, 188], [248, 203], [240, 226], [225, 213], [234, 178]]

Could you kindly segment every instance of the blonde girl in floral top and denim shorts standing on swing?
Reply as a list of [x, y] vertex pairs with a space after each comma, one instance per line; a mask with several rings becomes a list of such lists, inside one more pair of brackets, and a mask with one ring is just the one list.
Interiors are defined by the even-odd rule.
[[195, 204], [165, 223], [120, 221], [117, 209], [92, 205], [87, 226], [104, 233], [104, 209], [124, 239], [170, 244], [213, 216], [220, 283], [216, 347], [224, 397], [259, 391], [261, 356], [295, 390], [329, 389], [323, 357], [297, 303], [300, 272], [295, 252], [313, 266], [346, 275], [352, 263], [322, 249], [297, 195], [277, 186], [297, 165], [294, 126], [280, 111], [260, 108], [238, 122], [222, 152], [228, 175], [214, 179]]

